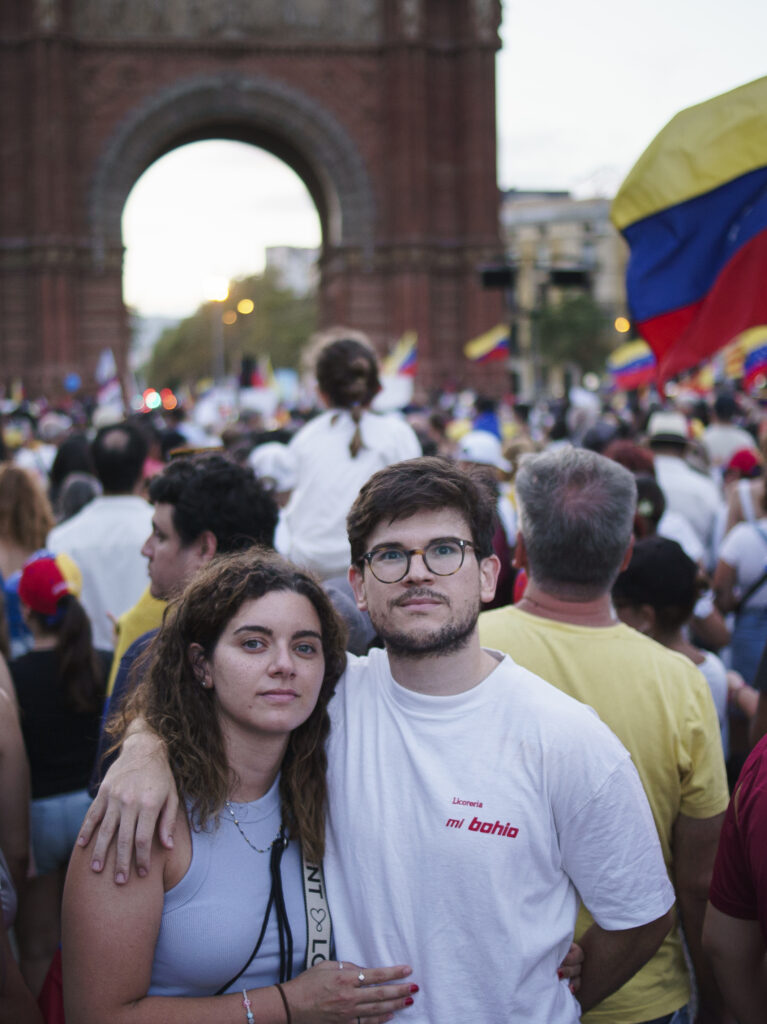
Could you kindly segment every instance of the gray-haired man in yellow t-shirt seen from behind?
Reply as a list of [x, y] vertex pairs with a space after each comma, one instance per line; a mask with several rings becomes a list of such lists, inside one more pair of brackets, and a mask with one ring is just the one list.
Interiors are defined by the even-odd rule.
[[[633, 549], [636, 484], [594, 452], [524, 457], [516, 476], [514, 564], [522, 599], [479, 617], [482, 644], [590, 705], [629, 750], [644, 785], [695, 972], [698, 1022], [721, 1020], [701, 950], [711, 871], [727, 806], [719, 726], [701, 673], [623, 625], [610, 589]], [[573, 770], [576, 766], [573, 766]], [[578, 937], [590, 923], [582, 910]], [[679, 927], [587, 1022], [686, 1022], [690, 984]]]

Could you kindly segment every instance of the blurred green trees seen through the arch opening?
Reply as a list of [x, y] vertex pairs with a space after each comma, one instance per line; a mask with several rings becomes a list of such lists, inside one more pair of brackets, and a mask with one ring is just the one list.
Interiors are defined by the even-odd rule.
[[[238, 303], [250, 299], [253, 312], [237, 312]], [[298, 296], [280, 285], [278, 274], [263, 274], [231, 282], [224, 302], [207, 302], [194, 315], [164, 331], [145, 368], [153, 387], [178, 388], [209, 378], [214, 370], [216, 317], [237, 312], [232, 324], [220, 322], [224, 366], [239, 374], [242, 357], [269, 356], [274, 369], [297, 369], [301, 350], [316, 330], [316, 296]]]

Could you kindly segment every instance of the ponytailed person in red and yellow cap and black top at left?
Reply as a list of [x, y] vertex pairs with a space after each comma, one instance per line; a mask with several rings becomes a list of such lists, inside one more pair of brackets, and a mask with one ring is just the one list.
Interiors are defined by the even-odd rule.
[[78, 600], [79, 570], [66, 555], [34, 555], [18, 596], [34, 646], [10, 664], [32, 780], [30, 831], [35, 876], [22, 894], [20, 967], [38, 992], [58, 945], [70, 852], [90, 803], [109, 663], [97, 655]]

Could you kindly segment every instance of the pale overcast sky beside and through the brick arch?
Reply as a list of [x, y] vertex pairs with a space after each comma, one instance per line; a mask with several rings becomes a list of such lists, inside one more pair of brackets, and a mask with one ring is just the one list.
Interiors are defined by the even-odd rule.
[[[499, 183], [611, 196], [678, 111], [767, 74], [766, 0], [505, 0]], [[123, 218], [125, 299], [194, 312], [267, 245], [318, 246], [316, 211], [275, 158], [236, 142], [168, 154]]]

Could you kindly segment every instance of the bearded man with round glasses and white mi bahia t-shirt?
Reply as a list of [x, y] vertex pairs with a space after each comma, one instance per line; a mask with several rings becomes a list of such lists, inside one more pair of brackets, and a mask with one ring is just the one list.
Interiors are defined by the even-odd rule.
[[[574, 1024], [557, 968], [579, 894], [598, 922], [582, 938], [590, 1007], [657, 948], [673, 890], [628, 753], [589, 709], [479, 646], [494, 525], [495, 495], [435, 458], [374, 474], [349, 513], [351, 586], [386, 649], [350, 657], [331, 701], [337, 955], [412, 964], [418, 1024]], [[128, 772], [157, 790], [157, 741], [134, 736], [131, 750]], [[159, 788], [162, 802], [172, 783]], [[138, 829], [151, 840], [154, 820]], [[373, 1004], [370, 1016], [381, 1020]]]

